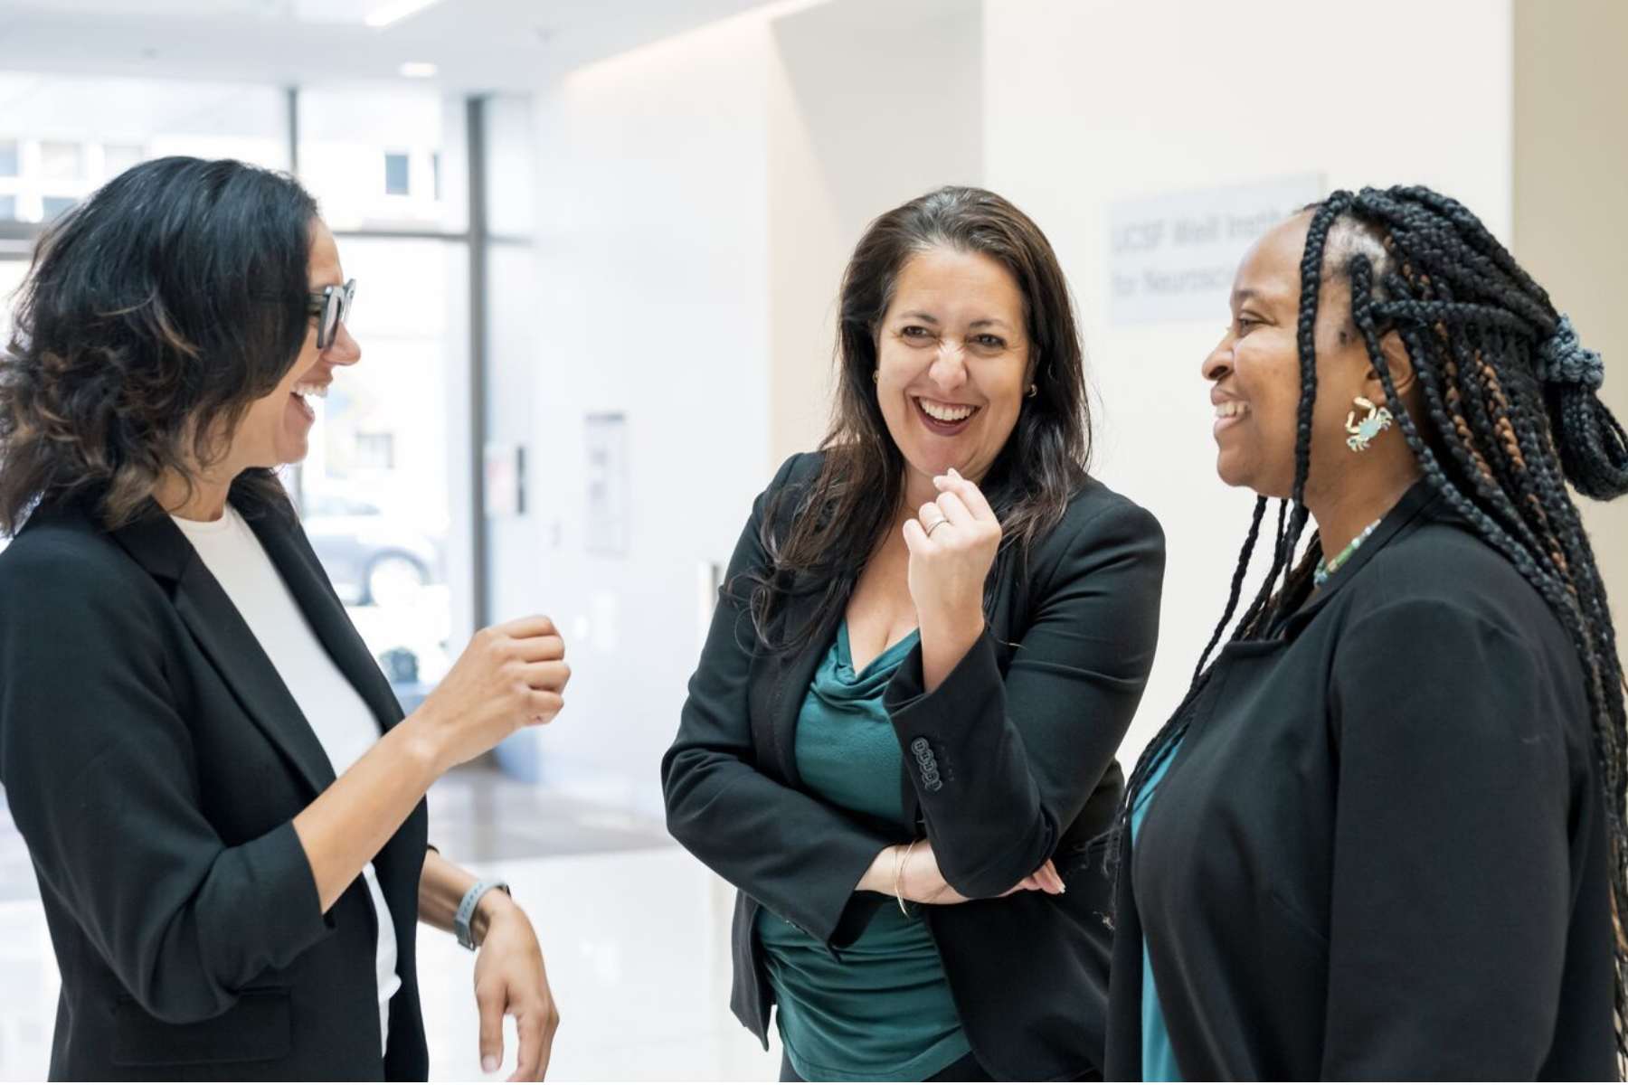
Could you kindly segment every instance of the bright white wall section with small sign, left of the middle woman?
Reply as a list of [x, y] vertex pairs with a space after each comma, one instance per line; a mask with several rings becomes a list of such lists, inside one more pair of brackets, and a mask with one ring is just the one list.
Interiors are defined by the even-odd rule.
[[[698, 649], [697, 569], [768, 480], [770, 41], [741, 16], [539, 94], [536, 595], [573, 664], [544, 779], [659, 810], [658, 761]], [[632, 540], [586, 553], [584, 423], [625, 412]], [[503, 577], [493, 568], [493, 577]]]

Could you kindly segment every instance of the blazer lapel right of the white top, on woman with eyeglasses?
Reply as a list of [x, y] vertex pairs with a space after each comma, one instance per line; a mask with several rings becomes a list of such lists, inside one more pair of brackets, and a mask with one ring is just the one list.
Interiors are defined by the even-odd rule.
[[396, 699], [384, 672], [374, 662], [373, 652], [357, 633], [357, 626], [352, 625], [339, 595], [334, 594], [334, 586], [329, 582], [327, 573], [322, 571], [316, 553], [306, 543], [304, 532], [296, 522], [272, 516], [262, 516], [247, 521], [247, 524], [254, 529], [260, 545], [265, 547], [267, 556], [277, 566], [277, 573], [282, 574], [288, 594], [295, 597], [306, 621], [311, 623], [317, 641], [327, 649], [329, 659], [373, 709], [373, 716], [379, 721], [379, 730], [394, 727], [402, 719], [400, 703]]

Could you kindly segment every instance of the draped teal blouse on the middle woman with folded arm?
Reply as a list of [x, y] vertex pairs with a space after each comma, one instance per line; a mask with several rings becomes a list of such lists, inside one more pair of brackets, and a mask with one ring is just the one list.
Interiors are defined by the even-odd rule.
[[[917, 634], [855, 673], [848, 623], [814, 672], [798, 714], [803, 786], [837, 807], [905, 825], [902, 752], [882, 691]], [[799, 1077], [824, 1082], [920, 1082], [970, 1051], [933, 935], [912, 908], [889, 901], [832, 955], [767, 908], [757, 937], [778, 1004], [780, 1043]]]

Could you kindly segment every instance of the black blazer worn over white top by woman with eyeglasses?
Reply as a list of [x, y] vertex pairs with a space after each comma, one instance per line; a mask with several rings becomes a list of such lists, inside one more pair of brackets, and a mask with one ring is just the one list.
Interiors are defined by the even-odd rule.
[[[288, 514], [251, 519], [387, 729], [389, 683]], [[42, 509], [0, 555], [0, 782], [62, 970], [52, 1078], [425, 1078], [425, 805], [374, 859], [402, 987], [379, 1056], [361, 878], [324, 916], [291, 818], [334, 771], [169, 517]]]

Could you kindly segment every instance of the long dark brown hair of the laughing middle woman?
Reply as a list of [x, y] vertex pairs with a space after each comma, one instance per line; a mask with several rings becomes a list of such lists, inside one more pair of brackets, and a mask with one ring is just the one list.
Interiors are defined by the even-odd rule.
[[[812, 485], [785, 488], [762, 519], [765, 571], [747, 571], [752, 625], [762, 644], [806, 641], [842, 605], [905, 493], [905, 460], [876, 400], [877, 332], [899, 273], [918, 252], [952, 249], [996, 260], [1024, 299], [1031, 381], [1017, 425], [980, 483], [1001, 519], [1001, 548], [1026, 556], [1063, 519], [1086, 480], [1091, 415], [1084, 351], [1068, 280], [1034, 221], [983, 189], [944, 187], [879, 216], [860, 237], [842, 277], [837, 329], [838, 389], [821, 442], [824, 464]], [[785, 501], [794, 501], [781, 532]], [[991, 582], [995, 571], [991, 569]], [[799, 630], [770, 630], [788, 592], [821, 592]]]

